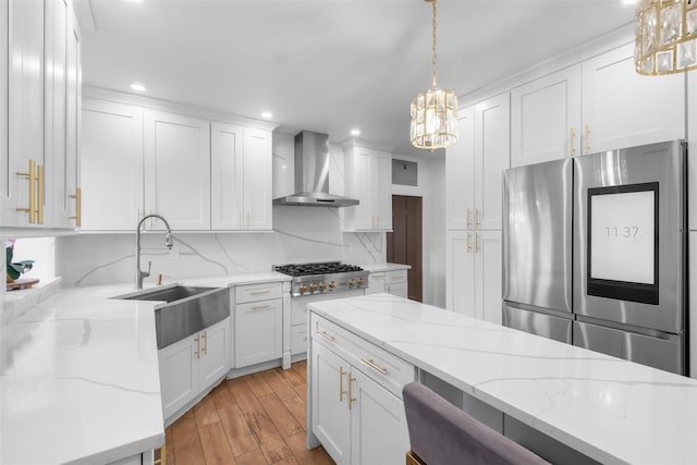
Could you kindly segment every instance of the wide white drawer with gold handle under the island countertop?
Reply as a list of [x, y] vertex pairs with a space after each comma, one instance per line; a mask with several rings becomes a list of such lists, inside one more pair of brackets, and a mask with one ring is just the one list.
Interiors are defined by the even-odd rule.
[[357, 336], [351, 331], [313, 314], [311, 338], [319, 344], [337, 352], [353, 367], [402, 399], [404, 384], [414, 381], [414, 366], [386, 350]]

